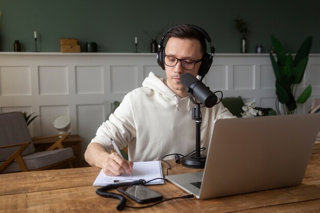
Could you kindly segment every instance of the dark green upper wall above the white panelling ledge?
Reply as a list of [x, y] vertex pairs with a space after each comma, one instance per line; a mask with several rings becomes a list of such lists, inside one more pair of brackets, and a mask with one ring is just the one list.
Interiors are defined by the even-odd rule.
[[[219, 0], [0, 0], [0, 51], [12, 52], [14, 40], [21, 51], [60, 52], [60, 38], [95, 41], [99, 52], [150, 52], [151, 39], [178, 23], [191, 23], [206, 30], [216, 53], [239, 53], [241, 34], [234, 19], [248, 23], [249, 53], [262, 44], [271, 49], [274, 34], [287, 52], [295, 53], [305, 38], [313, 36], [311, 53], [320, 53], [320, 1]], [[161, 34], [162, 35], [162, 34]], [[159, 40], [161, 36], [157, 37]]]

